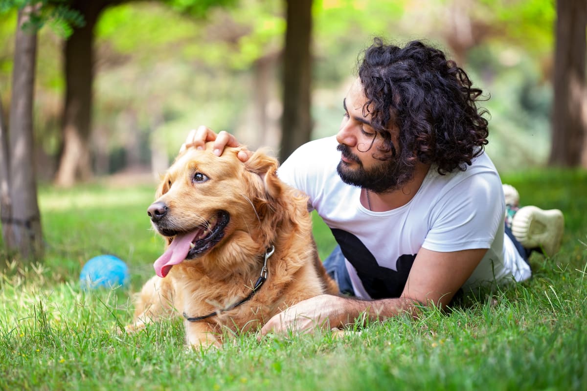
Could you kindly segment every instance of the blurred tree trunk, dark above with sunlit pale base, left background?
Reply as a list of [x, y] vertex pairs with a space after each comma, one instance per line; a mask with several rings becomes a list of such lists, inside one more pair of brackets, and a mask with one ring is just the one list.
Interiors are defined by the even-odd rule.
[[82, 13], [86, 24], [73, 30], [63, 47], [65, 103], [63, 105], [63, 152], [55, 184], [71, 186], [92, 176], [90, 131], [92, 123], [92, 84], [94, 77], [94, 27], [100, 12], [110, 2], [73, 1], [71, 7]]

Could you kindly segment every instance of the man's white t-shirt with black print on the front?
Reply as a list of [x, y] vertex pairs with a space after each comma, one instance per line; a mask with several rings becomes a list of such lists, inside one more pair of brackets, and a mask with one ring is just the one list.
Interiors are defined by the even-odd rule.
[[523, 281], [528, 264], [504, 233], [501, 179], [487, 154], [466, 171], [440, 175], [432, 166], [406, 205], [372, 212], [360, 203], [360, 188], [340, 179], [335, 137], [308, 142], [278, 170], [279, 178], [309, 196], [345, 255], [358, 297], [399, 297], [421, 247], [433, 251], [488, 249], [463, 285]]

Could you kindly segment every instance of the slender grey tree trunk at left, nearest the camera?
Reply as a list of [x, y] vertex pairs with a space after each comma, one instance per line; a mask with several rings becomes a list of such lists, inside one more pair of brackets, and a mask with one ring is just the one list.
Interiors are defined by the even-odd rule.
[[18, 250], [23, 260], [42, 256], [41, 214], [33, 159], [33, 91], [35, 86], [36, 32], [22, 30], [32, 6], [18, 12], [9, 129], [9, 179], [12, 215], [3, 220], [11, 232], [8, 251]]

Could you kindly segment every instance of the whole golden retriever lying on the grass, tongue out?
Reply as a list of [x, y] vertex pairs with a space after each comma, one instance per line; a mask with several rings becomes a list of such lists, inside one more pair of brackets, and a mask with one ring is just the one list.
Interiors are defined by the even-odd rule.
[[243, 163], [238, 151], [187, 148], [168, 169], [147, 210], [166, 250], [127, 331], [183, 315], [188, 345], [220, 346], [224, 328], [257, 329], [296, 302], [338, 294], [307, 198], [279, 181], [274, 158], [258, 151]]

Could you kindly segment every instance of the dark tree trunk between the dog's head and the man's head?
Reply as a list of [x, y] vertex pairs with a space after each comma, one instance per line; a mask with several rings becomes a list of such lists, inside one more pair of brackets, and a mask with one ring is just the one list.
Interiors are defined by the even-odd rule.
[[310, 140], [312, 0], [287, 0], [280, 161]]

